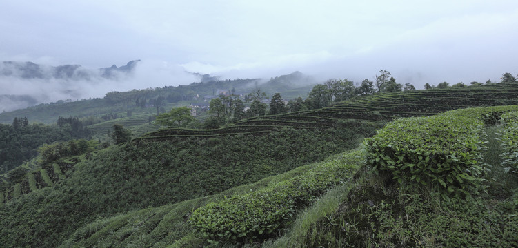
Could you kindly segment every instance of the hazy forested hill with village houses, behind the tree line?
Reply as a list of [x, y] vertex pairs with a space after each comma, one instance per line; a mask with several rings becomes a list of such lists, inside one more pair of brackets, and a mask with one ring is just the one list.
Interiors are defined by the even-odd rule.
[[[107, 69], [106, 73], [112, 72]], [[299, 96], [306, 97], [312, 86], [317, 84], [315, 79], [301, 72], [277, 76], [269, 81], [263, 79], [217, 80], [209, 75], [200, 76], [203, 81], [190, 85], [148, 88], [129, 92], [108, 92], [102, 99], [63, 100], [3, 112], [0, 114], [0, 123], [12, 123], [15, 117], [26, 117], [31, 123], [46, 124], [56, 123], [59, 116], [103, 118], [103, 116], [111, 115], [122, 118], [128, 116], [128, 112], [132, 112], [133, 115], [146, 115], [147, 120], [153, 107], [159, 106], [166, 110], [181, 105], [208, 105], [210, 99], [232, 90], [235, 90], [235, 94], [246, 95], [260, 87], [268, 96], [279, 92], [284, 99], [295, 99]], [[15, 96], [9, 97], [12, 99]], [[144, 107], [150, 107], [151, 111], [143, 110]]]

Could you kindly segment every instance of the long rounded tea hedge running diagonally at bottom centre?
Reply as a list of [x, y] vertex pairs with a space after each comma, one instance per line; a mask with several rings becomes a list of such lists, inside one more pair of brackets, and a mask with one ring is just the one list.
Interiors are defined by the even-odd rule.
[[351, 178], [360, 157], [359, 152], [351, 152], [256, 192], [209, 203], [193, 212], [190, 223], [210, 242], [265, 238], [289, 223], [296, 209]]

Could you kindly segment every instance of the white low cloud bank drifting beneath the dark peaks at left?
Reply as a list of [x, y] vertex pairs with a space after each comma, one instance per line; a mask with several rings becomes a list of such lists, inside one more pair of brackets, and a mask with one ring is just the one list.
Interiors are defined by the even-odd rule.
[[78, 73], [88, 75], [86, 78], [77, 74], [57, 78], [50, 68], [48, 65], [41, 65], [42, 78], [23, 78], [24, 72], [21, 71], [0, 76], [0, 112], [37, 103], [101, 98], [111, 91], [186, 85], [199, 81], [199, 76], [186, 72], [178, 65], [162, 61], [140, 61], [132, 72], [114, 72], [110, 78], [103, 77], [98, 69], [88, 68], [77, 69]]

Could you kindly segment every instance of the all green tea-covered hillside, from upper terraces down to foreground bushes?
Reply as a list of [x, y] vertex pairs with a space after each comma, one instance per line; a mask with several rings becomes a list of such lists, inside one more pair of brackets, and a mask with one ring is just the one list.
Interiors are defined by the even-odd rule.
[[[461, 218], [479, 218], [479, 210], [470, 215], [452, 212], [454, 203], [466, 199], [473, 199], [474, 204], [468, 204], [468, 210], [495, 202], [501, 204], [495, 211], [514, 213], [510, 204], [514, 193], [508, 187], [514, 177], [498, 162], [491, 163], [489, 173], [481, 161], [488, 157], [483, 149], [487, 130], [493, 135], [511, 130], [511, 124], [495, 124], [511, 123], [512, 118], [504, 117], [501, 122], [500, 116], [518, 107], [432, 115], [463, 107], [508, 105], [517, 96], [512, 83], [389, 92], [320, 110], [243, 119], [214, 130], [166, 128], [128, 143], [59, 156], [46, 163], [41, 153], [39, 161], [21, 167], [26, 169], [16, 181], [2, 178], [6, 183], [0, 188], [5, 192], [0, 198], [0, 242], [6, 247], [268, 247], [283, 240], [298, 244], [293, 247], [475, 244], [427, 233], [435, 226], [420, 224], [436, 221], [439, 227], [443, 225], [439, 220], [412, 223], [407, 218], [404, 222], [400, 214], [415, 216], [415, 220], [419, 213], [433, 210], [456, 214], [459, 223], [469, 222]], [[386, 122], [410, 116], [432, 117], [391, 123], [362, 148], [346, 152], [375, 135]], [[457, 120], [457, 116], [464, 117]], [[426, 143], [420, 135], [409, 135], [419, 134], [424, 123], [430, 127], [428, 132], [437, 132], [430, 135], [430, 142], [450, 142]], [[401, 126], [408, 126], [408, 136], [397, 132]], [[444, 132], [437, 131], [441, 129]], [[390, 144], [390, 137], [399, 137], [396, 134], [413, 146]], [[459, 141], [469, 146], [462, 148], [464, 142]], [[383, 148], [369, 150], [374, 144]], [[430, 144], [437, 146], [428, 149]], [[514, 148], [511, 142], [506, 144], [507, 155], [500, 154], [508, 159]], [[412, 154], [416, 147], [424, 154]], [[459, 154], [448, 153], [459, 147]], [[419, 155], [430, 156], [443, 167], [419, 164]], [[506, 167], [513, 171], [510, 164]], [[497, 176], [506, 180], [494, 180]], [[252, 208], [244, 211], [246, 207]], [[513, 236], [501, 227], [504, 218], [492, 219], [495, 211], [484, 212], [488, 214], [484, 221], [494, 223], [486, 234], [512, 242]], [[297, 224], [309, 220], [302, 227]], [[506, 220], [514, 221], [512, 217]], [[390, 232], [395, 225], [404, 233]], [[410, 227], [415, 229], [405, 229]], [[475, 224], [470, 228], [473, 234], [481, 233]], [[512, 222], [509, 228], [515, 228]]]

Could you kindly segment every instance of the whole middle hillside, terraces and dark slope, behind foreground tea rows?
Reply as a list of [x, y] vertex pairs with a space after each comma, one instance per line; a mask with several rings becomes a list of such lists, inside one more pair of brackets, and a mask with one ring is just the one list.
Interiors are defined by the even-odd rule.
[[[218, 194], [320, 161], [357, 147], [385, 121], [399, 116], [501, 105], [517, 96], [512, 85], [376, 94], [323, 110], [253, 118], [219, 130], [153, 132], [83, 158], [52, 187], [29, 194], [8, 188], [6, 195], [17, 197], [5, 197], [0, 206], [0, 241], [8, 247], [56, 247], [99, 218], [114, 217], [106, 224], [117, 216], [124, 219], [97, 234], [102, 237], [129, 220], [123, 217], [128, 211]], [[168, 207], [162, 210], [152, 223], [166, 218]], [[92, 225], [101, 228], [99, 223]], [[126, 231], [120, 237], [133, 234]], [[74, 239], [91, 234], [81, 235]]]

